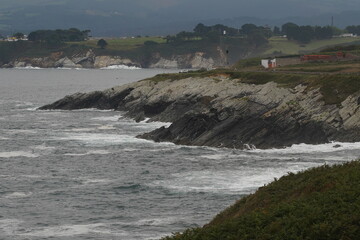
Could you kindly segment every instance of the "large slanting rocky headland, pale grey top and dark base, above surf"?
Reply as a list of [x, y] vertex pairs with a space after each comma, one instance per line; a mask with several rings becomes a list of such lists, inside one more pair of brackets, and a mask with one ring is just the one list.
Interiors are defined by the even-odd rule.
[[360, 141], [360, 92], [327, 105], [318, 89], [246, 84], [226, 76], [143, 80], [77, 93], [41, 109], [127, 111], [136, 120], [172, 122], [140, 137], [176, 144], [272, 148], [296, 143]]

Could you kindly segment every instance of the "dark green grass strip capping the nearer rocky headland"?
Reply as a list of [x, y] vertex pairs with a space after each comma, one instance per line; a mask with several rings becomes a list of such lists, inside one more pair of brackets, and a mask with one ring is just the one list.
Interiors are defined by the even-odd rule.
[[185, 78], [227, 76], [230, 80], [236, 80], [248, 84], [266, 84], [275, 82], [280, 87], [293, 88], [299, 84], [307, 86], [307, 90], [319, 88], [326, 104], [340, 104], [349, 95], [360, 91], [359, 74], [299, 74], [282, 72], [246, 72], [231, 69], [215, 69], [211, 71], [190, 71], [185, 73], [159, 74], [150, 80], [154, 82], [166, 80], [180, 80]]

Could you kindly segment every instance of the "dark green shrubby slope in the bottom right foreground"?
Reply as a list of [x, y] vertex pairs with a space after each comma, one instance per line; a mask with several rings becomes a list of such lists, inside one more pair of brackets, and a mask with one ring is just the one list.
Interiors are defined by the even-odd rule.
[[203, 228], [163, 240], [360, 239], [360, 162], [275, 179]]

